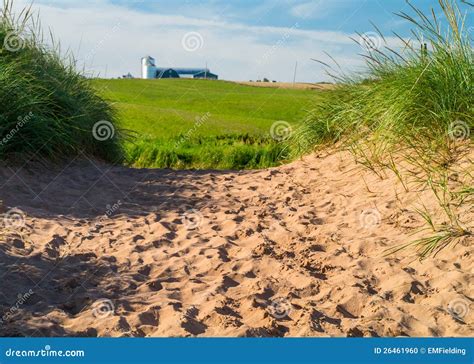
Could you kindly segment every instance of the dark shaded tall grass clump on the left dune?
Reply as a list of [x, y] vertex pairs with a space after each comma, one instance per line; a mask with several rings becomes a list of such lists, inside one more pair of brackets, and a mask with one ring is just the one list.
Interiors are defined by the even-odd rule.
[[31, 8], [15, 13], [12, 0], [0, 8], [0, 101], [0, 159], [122, 160], [112, 107], [72, 56], [46, 45]]

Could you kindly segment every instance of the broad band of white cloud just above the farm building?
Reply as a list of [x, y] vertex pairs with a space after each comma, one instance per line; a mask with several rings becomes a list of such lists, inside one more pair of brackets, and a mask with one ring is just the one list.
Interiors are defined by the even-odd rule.
[[[52, 29], [62, 48], [70, 49], [86, 71], [102, 77], [106, 70], [108, 77], [127, 72], [139, 76], [140, 58], [147, 54], [157, 59], [158, 66], [204, 67], [207, 63], [212, 72], [229, 80], [267, 77], [290, 81], [296, 61], [297, 80], [325, 80], [322, 67], [310, 60], [327, 59], [324, 51], [346, 68], [362, 64], [350, 34], [305, 30], [298, 24], [288, 28], [248, 26], [144, 13], [105, 0], [40, 0], [35, 7], [40, 9], [43, 26]], [[203, 46], [196, 52], [186, 51], [181, 44], [190, 31], [203, 38]]]

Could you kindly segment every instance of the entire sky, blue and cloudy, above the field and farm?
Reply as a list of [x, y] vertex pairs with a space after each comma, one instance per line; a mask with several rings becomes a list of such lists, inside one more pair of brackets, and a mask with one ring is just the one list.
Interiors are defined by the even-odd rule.
[[[441, 15], [437, 0], [411, 2]], [[27, 3], [15, 0], [18, 9]], [[371, 22], [390, 45], [400, 44], [393, 32], [410, 36], [394, 14], [410, 11], [405, 0], [36, 0], [33, 9], [78, 67], [106, 78], [139, 77], [151, 55], [158, 67], [207, 65], [226, 80], [290, 82], [296, 68], [298, 82], [330, 81], [313, 59], [362, 71], [354, 40], [383, 47]]]

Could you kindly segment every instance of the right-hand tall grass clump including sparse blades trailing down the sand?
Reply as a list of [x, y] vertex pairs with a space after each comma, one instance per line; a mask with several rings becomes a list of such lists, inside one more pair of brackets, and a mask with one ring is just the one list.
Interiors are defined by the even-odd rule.
[[399, 16], [412, 25], [410, 39], [395, 34], [399, 46], [389, 45], [377, 30], [382, 47], [363, 35], [356, 40], [365, 50], [366, 72], [341, 76], [326, 64], [339, 86], [309, 114], [293, 144], [301, 154], [340, 142], [373, 171], [389, 169], [402, 181], [410, 177], [418, 187], [432, 189], [446, 221], [437, 225], [421, 211], [433, 231], [415, 242], [424, 257], [472, 235], [455, 212], [460, 205], [452, 191], [461, 188], [472, 197], [472, 170], [456, 171], [465, 177], [461, 187], [458, 181], [451, 188], [449, 181], [452, 168], [472, 147], [473, 32], [465, 21], [473, 5], [439, 0], [441, 20], [435, 9], [425, 14], [408, 4], [410, 14]]

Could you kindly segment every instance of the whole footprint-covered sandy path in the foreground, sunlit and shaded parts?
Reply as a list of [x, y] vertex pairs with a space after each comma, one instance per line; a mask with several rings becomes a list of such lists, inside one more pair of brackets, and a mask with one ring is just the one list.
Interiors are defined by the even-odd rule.
[[0, 183], [1, 335], [474, 334], [472, 239], [385, 256], [434, 199], [346, 153], [243, 172], [84, 157]]

